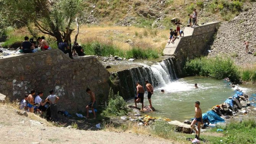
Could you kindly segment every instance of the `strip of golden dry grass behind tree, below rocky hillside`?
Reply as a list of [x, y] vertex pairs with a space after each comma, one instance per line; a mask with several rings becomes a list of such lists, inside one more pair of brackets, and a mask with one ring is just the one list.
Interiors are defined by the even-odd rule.
[[[166, 37], [169, 35], [167, 30], [137, 28], [134, 26], [81, 26], [79, 32], [79, 43], [99, 41], [105, 44], [114, 44], [122, 50], [130, 50], [132, 48], [131, 45], [125, 43], [126, 40], [131, 39], [135, 46], [159, 51], [162, 48], [162, 43], [166, 41]], [[163, 37], [164, 35], [166, 37]], [[74, 35], [72, 35], [72, 39], [73, 37]]]

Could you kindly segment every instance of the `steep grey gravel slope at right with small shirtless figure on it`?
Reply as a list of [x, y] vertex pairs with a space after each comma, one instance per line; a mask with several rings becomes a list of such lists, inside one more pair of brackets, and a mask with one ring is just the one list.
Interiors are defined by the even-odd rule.
[[[256, 3], [245, 3], [247, 7], [230, 22], [222, 22], [211, 45], [209, 57], [228, 55], [240, 66], [250, 67], [256, 62]], [[245, 52], [244, 40], [250, 42], [249, 51]], [[243, 45], [243, 46], [242, 46]]]

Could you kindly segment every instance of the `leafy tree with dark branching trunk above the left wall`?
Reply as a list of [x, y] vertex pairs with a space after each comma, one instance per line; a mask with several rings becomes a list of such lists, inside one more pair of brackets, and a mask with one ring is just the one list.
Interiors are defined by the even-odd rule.
[[57, 44], [71, 43], [72, 23], [83, 10], [84, 0], [0, 0], [0, 15], [16, 26], [30, 26], [53, 36]]

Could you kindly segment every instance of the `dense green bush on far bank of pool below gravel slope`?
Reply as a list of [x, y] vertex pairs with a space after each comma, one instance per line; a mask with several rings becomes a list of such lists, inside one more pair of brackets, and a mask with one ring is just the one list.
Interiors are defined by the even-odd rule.
[[240, 79], [238, 68], [231, 58], [195, 58], [187, 61], [184, 69], [191, 76], [211, 76], [216, 79], [228, 77], [233, 82], [238, 82]]

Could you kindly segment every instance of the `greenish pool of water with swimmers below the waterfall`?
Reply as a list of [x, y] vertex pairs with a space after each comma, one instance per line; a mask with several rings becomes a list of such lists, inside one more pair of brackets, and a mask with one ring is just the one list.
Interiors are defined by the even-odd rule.
[[[194, 87], [194, 83], [198, 84], [198, 88]], [[233, 96], [237, 87], [249, 96], [256, 93], [256, 86], [237, 85], [232, 88], [224, 80], [206, 77], [177, 79], [155, 89], [151, 100], [156, 112], [149, 113], [149, 115], [184, 121], [194, 117], [194, 102], [200, 102], [204, 113], [214, 105], [222, 104], [228, 97]], [[161, 89], [164, 89], [165, 93], [162, 93]], [[128, 104], [134, 105], [134, 100], [129, 99]], [[149, 105], [147, 94], [144, 95], [144, 105]], [[138, 107], [141, 107], [141, 104], [138, 104]]]

